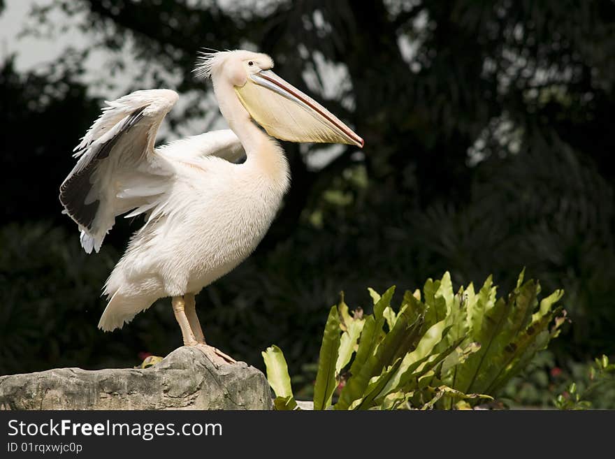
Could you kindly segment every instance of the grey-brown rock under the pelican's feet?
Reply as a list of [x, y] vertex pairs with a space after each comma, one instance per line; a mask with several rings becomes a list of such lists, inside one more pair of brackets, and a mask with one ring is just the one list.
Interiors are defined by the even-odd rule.
[[266, 377], [180, 347], [153, 367], [57, 368], [0, 377], [0, 409], [273, 409]]

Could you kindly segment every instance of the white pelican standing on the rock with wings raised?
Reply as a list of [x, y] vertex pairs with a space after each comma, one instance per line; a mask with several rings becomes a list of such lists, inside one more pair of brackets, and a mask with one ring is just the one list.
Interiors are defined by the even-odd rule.
[[99, 252], [116, 217], [145, 217], [104, 286], [102, 330], [122, 328], [171, 297], [184, 345], [234, 361], [205, 343], [194, 297], [244, 261], [268, 231], [290, 182], [274, 138], [363, 147], [346, 124], [271, 68], [267, 54], [245, 50], [197, 59], [195, 71], [211, 78], [231, 129], [154, 148], [178, 94], [150, 89], [107, 101], [75, 147], [78, 161], [59, 199], [85, 252]]

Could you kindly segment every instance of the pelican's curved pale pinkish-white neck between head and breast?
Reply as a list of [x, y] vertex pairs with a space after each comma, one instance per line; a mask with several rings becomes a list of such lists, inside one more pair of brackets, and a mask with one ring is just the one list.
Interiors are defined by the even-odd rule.
[[261, 131], [240, 102], [232, 85], [214, 81], [214, 92], [222, 116], [236, 133], [247, 156], [246, 165], [253, 166], [271, 180], [279, 182], [284, 191], [289, 182], [289, 165], [277, 142]]

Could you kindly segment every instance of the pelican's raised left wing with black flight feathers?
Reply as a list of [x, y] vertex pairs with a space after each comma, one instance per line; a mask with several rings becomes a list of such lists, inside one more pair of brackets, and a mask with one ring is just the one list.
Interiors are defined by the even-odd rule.
[[59, 199], [79, 226], [85, 252], [99, 251], [117, 215], [145, 212], [170, 186], [173, 169], [154, 153], [154, 140], [177, 100], [171, 90], [152, 89], [107, 102], [75, 148], [79, 160]]

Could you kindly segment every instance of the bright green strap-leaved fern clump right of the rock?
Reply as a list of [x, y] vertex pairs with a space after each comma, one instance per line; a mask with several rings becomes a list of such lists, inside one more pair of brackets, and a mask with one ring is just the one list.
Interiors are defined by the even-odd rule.
[[[491, 276], [478, 292], [454, 293], [447, 272], [428, 279], [423, 295], [406, 291], [395, 312], [395, 287], [370, 289], [373, 313], [354, 314], [342, 300], [328, 314], [314, 388], [314, 409], [431, 409], [470, 406], [498, 395], [560, 332], [565, 312], [554, 307], [562, 291], [538, 303], [540, 284], [523, 283], [496, 298]], [[551, 328], [549, 328], [551, 327]], [[279, 347], [263, 352], [278, 409], [297, 409], [287, 363]], [[347, 371], [345, 371], [347, 370]], [[454, 401], [463, 401], [454, 405]]]

